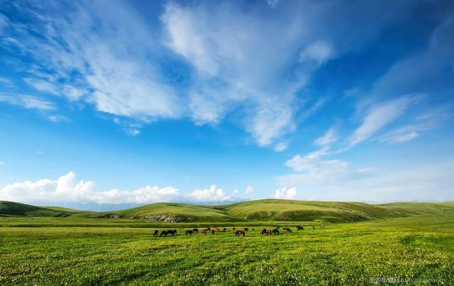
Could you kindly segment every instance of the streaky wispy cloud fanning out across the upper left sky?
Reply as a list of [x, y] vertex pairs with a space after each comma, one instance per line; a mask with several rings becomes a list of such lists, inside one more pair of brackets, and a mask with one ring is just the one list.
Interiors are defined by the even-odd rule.
[[[30, 25], [33, 21], [40, 25], [27, 29], [23, 23], [13, 23], [15, 29], [9, 30], [21, 38], [16, 47], [35, 62], [25, 79], [30, 86], [145, 122], [182, 116], [182, 98], [163, 80], [153, 60], [160, 43], [136, 11], [127, 4], [103, 1], [64, 5], [69, 17], [55, 10], [58, 5], [33, 11], [21, 6], [21, 13], [31, 18]], [[77, 18], [77, 23], [70, 18]]]

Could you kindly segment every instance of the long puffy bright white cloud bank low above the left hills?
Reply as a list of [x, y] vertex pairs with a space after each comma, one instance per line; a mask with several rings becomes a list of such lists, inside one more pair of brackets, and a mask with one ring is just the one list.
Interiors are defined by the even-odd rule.
[[94, 181], [78, 181], [73, 172], [57, 180], [43, 179], [36, 182], [13, 183], [0, 189], [1, 200], [16, 202], [97, 202], [100, 204], [170, 201], [177, 198], [179, 190], [147, 185], [138, 190], [96, 190]]

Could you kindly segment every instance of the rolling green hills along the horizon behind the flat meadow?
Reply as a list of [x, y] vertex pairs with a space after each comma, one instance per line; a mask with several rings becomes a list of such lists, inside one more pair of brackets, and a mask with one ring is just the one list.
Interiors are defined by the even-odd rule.
[[36, 207], [0, 201], [0, 216], [92, 217], [147, 219], [162, 222], [315, 221], [358, 222], [414, 215], [454, 214], [454, 202], [317, 202], [252, 200], [230, 205], [188, 205], [159, 202], [112, 212], [87, 212], [64, 207]]

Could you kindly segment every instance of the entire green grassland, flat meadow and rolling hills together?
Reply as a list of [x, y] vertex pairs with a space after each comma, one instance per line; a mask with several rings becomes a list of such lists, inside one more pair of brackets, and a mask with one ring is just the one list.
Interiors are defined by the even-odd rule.
[[[453, 202], [153, 204], [115, 212], [118, 219], [12, 206], [0, 203], [0, 285], [454, 284]], [[197, 219], [131, 219], [153, 214]], [[260, 234], [277, 226], [293, 232]], [[250, 231], [184, 235], [193, 227]], [[178, 234], [153, 237], [156, 229]]]

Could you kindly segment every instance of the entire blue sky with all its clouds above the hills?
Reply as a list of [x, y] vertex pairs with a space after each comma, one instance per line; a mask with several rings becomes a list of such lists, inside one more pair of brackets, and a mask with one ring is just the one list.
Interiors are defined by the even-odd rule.
[[0, 200], [454, 199], [452, 1], [0, 1], [0, 59]]

